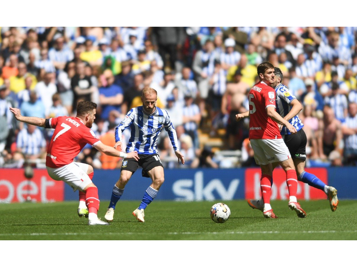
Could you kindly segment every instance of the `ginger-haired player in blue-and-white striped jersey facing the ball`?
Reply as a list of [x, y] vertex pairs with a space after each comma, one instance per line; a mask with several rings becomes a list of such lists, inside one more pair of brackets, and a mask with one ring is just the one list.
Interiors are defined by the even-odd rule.
[[107, 221], [113, 220], [115, 205], [122, 196], [126, 183], [129, 182], [130, 177], [138, 166], [141, 166], [142, 176], [150, 177], [152, 183], [146, 189], [139, 207], [132, 214], [137, 220], [144, 223], [144, 210], [154, 200], [162, 183], [164, 183], [164, 167], [156, 149], [157, 139], [162, 127], [165, 127], [165, 130], [169, 133], [178, 161], [180, 162], [181, 160], [182, 164], [185, 164], [183, 155], [177, 145], [176, 131], [172, 126], [169, 114], [167, 114], [167, 111], [155, 106], [156, 100], [156, 90], [150, 87], [145, 88], [141, 96], [143, 105], [131, 109], [115, 129], [116, 143], [114, 147], [120, 146], [122, 148], [122, 131], [130, 127], [131, 137], [126, 146], [126, 152], [137, 151], [139, 161], [124, 158], [121, 165], [120, 179], [114, 185], [110, 204], [105, 214]]

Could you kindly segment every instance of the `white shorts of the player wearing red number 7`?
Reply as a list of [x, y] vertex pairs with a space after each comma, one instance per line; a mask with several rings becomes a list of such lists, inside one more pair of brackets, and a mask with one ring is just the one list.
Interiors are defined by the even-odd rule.
[[80, 162], [72, 162], [60, 168], [50, 168], [47, 167], [47, 172], [49, 176], [56, 181], [64, 181], [73, 188], [73, 191], [81, 190], [83, 191], [87, 185], [92, 183], [89, 178], [88, 164]]

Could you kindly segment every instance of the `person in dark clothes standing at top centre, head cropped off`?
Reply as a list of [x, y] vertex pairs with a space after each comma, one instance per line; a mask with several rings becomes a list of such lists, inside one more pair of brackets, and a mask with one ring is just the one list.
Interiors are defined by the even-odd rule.
[[185, 31], [183, 27], [152, 27], [151, 41], [154, 47], [159, 48], [159, 54], [164, 60], [164, 67], [167, 65], [166, 54], [169, 55], [170, 69], [175, 69], [177, 52], [181, 51], [185, 41]]

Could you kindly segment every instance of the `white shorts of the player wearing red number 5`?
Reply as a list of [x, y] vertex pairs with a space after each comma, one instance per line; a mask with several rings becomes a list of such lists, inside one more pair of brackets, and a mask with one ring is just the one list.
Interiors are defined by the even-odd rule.
[[258, 165], [267, 165], [291, 158], [290, 152], [282, 138], [251, 139], [250, 145], [253, 148], [254, 159]]

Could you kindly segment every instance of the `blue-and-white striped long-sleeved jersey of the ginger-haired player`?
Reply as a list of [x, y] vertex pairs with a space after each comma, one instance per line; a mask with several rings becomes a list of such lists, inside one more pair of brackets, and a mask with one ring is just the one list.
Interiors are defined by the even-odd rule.
[[179, 150], [177, 135], [166, 110], [156, 107], [156, 111], [149, 115], [142, 106], [131, 109], [120, 124], [115, 128], [115, 142], [122, 141], [121, 133], [130, 127], [131, 136], [126, 146], [126, 152], [137, 151], [138, 154], [157, 153], [156, 143], [161, 128], [169, 133], [174, 150]]

